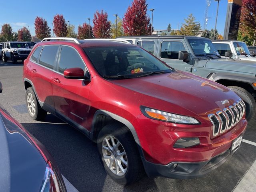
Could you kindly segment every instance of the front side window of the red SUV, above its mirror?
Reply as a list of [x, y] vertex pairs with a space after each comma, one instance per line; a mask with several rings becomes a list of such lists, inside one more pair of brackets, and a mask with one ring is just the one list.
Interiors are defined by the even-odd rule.
[[74, 48], [62, 46], [58, 71], [63, 73], [68, 68], [79, 67], [84, 70], [84, 62]]

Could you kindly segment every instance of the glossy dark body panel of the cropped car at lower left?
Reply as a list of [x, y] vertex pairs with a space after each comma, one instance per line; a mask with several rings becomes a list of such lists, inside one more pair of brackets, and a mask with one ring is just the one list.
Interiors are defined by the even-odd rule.
[[30, 138], [0, 106], [1, 191], [39, 191], [46, 162]]

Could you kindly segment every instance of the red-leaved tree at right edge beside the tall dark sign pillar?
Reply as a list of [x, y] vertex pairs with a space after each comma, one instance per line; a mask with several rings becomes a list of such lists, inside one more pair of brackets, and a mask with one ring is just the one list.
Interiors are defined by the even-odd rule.
[[240, 26], [241, 32], [254, 39], [253, 46], [256, 41], [256, 1], [243, 0]]

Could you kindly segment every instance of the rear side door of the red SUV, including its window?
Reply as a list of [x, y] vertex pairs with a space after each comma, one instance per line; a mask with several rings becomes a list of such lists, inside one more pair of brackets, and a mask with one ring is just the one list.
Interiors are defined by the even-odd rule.
[[47, 45], [36, 48], [30, 58], [30, 80], [34, 85], [40, 105], [53, 114], [52, 74], [57, 60], [58, 45]]

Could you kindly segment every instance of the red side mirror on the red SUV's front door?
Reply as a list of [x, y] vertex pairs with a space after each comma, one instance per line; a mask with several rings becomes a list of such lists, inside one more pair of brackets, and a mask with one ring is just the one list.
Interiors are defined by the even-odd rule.
[[66, 79], [84, 79], [90, 81], [90, 74], [88, 71], [84, 73], [84, 70], [81, 68], [69, 68], [64, 70], [64, 78]]

